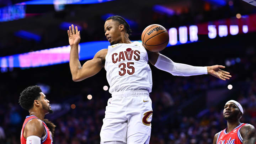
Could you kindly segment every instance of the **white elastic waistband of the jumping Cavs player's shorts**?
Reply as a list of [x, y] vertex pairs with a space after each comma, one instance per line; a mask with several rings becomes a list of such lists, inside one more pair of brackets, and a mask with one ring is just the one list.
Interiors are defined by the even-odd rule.
[[112, 92], [112, 97], [149, 96], [146, 90]]

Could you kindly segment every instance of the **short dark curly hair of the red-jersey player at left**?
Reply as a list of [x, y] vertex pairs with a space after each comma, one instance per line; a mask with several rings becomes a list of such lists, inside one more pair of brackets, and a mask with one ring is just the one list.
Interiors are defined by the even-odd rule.
[[40, 97], [40, 92], [42, 92], [42, 90], [39, 86], [29, 86], [21, 92], [18, 103], [25, 110], [30, 110], [34, 106], [34, 100]]

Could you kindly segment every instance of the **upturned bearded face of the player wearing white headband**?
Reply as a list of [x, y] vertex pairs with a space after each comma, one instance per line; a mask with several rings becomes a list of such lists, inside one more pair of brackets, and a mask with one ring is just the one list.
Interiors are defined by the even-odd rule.
[[223, 116], [225, 120], [237, 120], [241, 117], [241, 112], [239, 110], [239, 108], [235, 105], [235, 103], [233, 102], [228, 102], [225, 106], [224, 106], [224, 110], [223, 110]]

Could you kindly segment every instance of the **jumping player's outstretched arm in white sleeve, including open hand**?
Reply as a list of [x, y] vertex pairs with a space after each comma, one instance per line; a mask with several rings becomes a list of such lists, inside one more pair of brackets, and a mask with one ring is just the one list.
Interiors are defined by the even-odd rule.
[[148, 51], [149, 62], [160, 70], [167, 71], [172, 75], [178, 76], [191, 76], [191, 75], [202, 75], [211, 74], [221, 80], [226, 80], [231, 77], [228, 72], [220, 70], [225, 68], [222, 65], [213, 66], [192, 66], [187, 64], [175, 63], [170, 58], [160, 54], [159, 52]]

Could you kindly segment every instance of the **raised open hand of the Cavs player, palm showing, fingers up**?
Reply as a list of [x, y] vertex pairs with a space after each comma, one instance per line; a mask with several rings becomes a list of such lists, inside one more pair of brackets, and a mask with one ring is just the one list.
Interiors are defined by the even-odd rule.
[[[72, 26], [72, 30], [71, 30]], [[78, 31], [77, 26], [74, 28], [74, 25], [69, 26], [68, 36], [70, 46], [79, 44], [80, 42], [80, 31]]]

